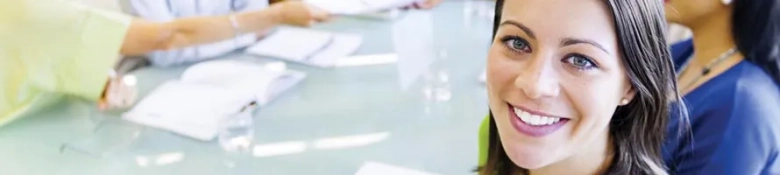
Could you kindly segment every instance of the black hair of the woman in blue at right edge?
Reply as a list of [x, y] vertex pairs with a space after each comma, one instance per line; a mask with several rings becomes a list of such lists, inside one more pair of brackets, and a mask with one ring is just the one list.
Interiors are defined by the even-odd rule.
[[780, 3], [776, 0], [736, 0], [731, 32], [739, 52], [780, 83]]

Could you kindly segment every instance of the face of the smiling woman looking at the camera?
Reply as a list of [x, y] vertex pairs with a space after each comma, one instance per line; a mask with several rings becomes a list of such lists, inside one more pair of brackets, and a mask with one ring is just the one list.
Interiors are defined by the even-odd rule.
[[605, 149], [615, 109], [633, 96], [608, 10], [601, 0], [504, 4], [488, 91], [501, 142], [518, 166]]

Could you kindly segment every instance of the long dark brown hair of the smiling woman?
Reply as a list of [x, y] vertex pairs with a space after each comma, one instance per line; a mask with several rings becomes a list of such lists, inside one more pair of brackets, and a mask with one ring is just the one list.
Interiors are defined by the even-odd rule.
[[[659, 0], [604, 0], [612, 11], [621, 58], [636, 97], [612, 116], [609, 134], [614, 147], [612, 164], [605, 174], [665, 174], [661, 145], [671, 111], [687, 115], [677, 91], [674, 64], [668, 50], [663, 2]], [[495, 38], [504, 0], [496, 1]], [[507, 157], [490, 115], [488, 162], [480, 174], [510, 174], [528, 171]]]

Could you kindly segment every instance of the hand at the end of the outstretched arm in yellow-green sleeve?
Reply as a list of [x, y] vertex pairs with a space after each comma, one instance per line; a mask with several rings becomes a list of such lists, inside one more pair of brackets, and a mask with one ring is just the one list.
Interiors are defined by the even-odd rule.
[[301, 1], [283, 1], [271, 5], [271, 8], [279, 14], [281, 23], [288, 25], [309, 26], [330, 17], [327, 11]]

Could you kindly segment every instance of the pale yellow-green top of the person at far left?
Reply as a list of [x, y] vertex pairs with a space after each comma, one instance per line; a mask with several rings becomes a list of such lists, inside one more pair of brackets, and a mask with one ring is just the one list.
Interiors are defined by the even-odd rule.
[[0, 126], [53, 94], [99, 99], [130, 22], [63, 0], [0, 1]]

